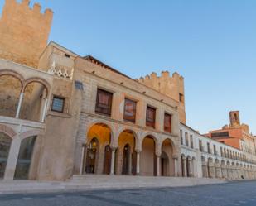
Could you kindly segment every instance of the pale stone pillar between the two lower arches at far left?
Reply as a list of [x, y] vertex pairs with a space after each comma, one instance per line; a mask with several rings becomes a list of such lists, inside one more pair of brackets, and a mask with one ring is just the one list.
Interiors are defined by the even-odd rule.
[[9, 156], [7, 159], [7, 166], [5, 169], [3, 180], [13, 180], [17, 165], [17, 159], [19, 156], [20, 146], [22, 141], [19, 137], [12, 140]]

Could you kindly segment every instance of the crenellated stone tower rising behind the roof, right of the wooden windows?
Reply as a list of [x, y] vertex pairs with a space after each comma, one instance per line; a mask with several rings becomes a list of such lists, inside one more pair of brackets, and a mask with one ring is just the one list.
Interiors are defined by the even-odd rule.
[[180, 74], [174, 73], [170, 76], [168, 71], [162, 71], [162, 75], [158, 77], [153, 72], [145, 78], [138, 79], [138, 81], [179, 102], [180, 120], [182, 123], [186, 123], [184, 79]]

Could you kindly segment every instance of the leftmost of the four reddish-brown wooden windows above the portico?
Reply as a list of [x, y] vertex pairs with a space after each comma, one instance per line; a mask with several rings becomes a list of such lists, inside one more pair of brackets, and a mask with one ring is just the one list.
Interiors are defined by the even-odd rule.
[[110, 116], [112, 107], [112, 97], [113, 93], [109, 93], [102, 89], [98, 89], [95, 112]]

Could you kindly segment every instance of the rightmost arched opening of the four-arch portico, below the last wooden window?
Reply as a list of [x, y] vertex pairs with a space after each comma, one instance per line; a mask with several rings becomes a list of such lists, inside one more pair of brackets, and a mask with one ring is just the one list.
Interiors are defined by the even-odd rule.
[[173, 156], [173, 146], [170, 139], [166, 139], [162, 142], [162, 155], [160, 161], [160, 174], [162, 176], [174, 176], [174, 160]]

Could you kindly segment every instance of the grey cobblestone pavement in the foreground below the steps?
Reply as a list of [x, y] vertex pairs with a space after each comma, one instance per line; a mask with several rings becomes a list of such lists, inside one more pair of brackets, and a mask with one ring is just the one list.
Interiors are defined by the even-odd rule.
[[2, 194], [0, 206], [255, 206], [256, 181], [183, 188], [94, 190], [62, 194]]

